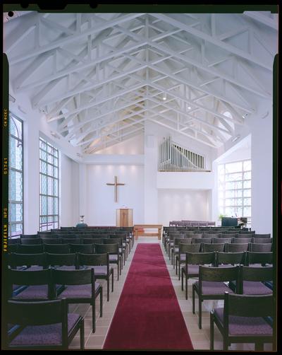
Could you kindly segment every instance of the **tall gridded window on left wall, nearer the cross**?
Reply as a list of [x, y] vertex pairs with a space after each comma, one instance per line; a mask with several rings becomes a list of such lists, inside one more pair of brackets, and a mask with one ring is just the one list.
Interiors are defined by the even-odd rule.
[[59, 228], [59, 151], [48, 141], [39, 138], [39, 230]]

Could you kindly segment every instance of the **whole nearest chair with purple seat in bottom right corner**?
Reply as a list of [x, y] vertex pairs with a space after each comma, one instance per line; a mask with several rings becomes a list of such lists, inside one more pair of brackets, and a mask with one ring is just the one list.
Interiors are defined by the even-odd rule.
[[214, 350], [214, 324], [223, 336], [223, 350], [233, 343], [255, 343], [263, 351], [264, 343], [274, 342], [269, 317], [274, 315], [271, 295], [246, 296], [226, 292], [223, 308], [210, 313], [210, 350]]

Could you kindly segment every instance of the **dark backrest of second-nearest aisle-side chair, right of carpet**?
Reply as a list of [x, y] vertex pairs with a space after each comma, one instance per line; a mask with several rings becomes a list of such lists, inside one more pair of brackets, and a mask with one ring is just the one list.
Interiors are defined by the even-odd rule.
[[225, 282], [236, 281], [236, 288], [239, 281], [239, 267], [208, 267], [200, 265], [199, 267], [199, 287], [202, 287], [202, 281]]

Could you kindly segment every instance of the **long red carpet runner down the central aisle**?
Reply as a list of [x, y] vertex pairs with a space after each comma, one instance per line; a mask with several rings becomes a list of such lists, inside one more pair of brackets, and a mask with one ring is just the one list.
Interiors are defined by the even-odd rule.
[[104, 349], [193, 349], [159, 244], [137, 245]]

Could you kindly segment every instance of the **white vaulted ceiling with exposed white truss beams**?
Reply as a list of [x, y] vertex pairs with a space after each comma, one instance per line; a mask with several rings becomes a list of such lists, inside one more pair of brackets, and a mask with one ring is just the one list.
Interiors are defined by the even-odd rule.
[[270, 12], [28, 12], [4, 36], [13, 92], [82, 153], [140, 134], [146, 120], [219, 147], [272, 100]]

